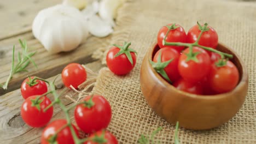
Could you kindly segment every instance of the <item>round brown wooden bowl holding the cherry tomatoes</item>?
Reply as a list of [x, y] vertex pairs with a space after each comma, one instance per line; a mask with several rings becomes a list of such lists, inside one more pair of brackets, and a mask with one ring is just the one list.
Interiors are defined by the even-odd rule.
[[165, 81], [149, 63], [159, 50], [154, 44], [146, 53], [141, 66], [141, 90], [152, 109], [167, 122], [183, 128], [203, 130], [216, 128], [235, 116], [245, 101], [248, 75], [241, 58], [229, 47], [218, 44], [217, 50], [230, 53], [230, 59], [240, 73], [240, 82], [231, 92], [217, 95], [196, 95], [179, 91]]

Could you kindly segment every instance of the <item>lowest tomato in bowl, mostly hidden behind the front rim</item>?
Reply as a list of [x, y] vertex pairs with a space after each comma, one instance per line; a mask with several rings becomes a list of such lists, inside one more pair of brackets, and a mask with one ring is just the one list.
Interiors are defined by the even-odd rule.
[[179, 79], [178, 81], [173, 83], [173, 86], [184, 92], [193, 94], [203, 94], [202, 85], [199, 82], [191, 83], [184, 79]]

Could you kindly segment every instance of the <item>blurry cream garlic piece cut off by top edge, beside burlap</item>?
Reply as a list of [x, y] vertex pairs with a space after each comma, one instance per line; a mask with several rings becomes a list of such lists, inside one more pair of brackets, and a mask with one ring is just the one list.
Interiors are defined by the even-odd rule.
[[117, 17], [117, 9], [123, 4], [123, 0], [102, 0], [98, 14], [104, 20], [113, 20]]

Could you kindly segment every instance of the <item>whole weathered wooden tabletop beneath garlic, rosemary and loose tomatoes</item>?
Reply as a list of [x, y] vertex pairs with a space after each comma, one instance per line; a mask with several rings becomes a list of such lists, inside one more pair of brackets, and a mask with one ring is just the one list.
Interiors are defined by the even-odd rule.
[[[101, 62], [93, 59], [91, 55], [96, 49], [108, 46], [107, 41], [111, 36], [106, 38], [90, 36], [86, 43], [77, 49], [55, 55], [50, 55], [42, 44], [33, 37], [31, 25], [38, 11], [57, 3], [61, 3], [61, 0], [8, 0], [0, 2], [0, 83], [4, 83], [10, 73], [13, 45], [16, 47], [16, 52], [21, 50], [18, 39], [26, 39], [29, 50], [37, 52], [32, 58], [38, 65], [36, 69], [30, 64], [27, 68], [28, 73], [15, 74], [7, 91], [0, 89], [0, 143], [39, 143], [42, 128], [29, 127], [20, 116], [20, 106], [24, 101], [20, 94], [20, 85], [27, 75], [53, 80], [53, 77], [60, 74], [62, 69], [71, 62], [86, 64], [93, 71], [98, 71], [103, 67]], [[61, 79], [59, 79], [57, 85], [61, 85], [61, 83]], [[66, 105], [71, 104], [65, 98], [63, 101]], [[61, 117], [63, 118], [63, 113], [60, 107], [55, 106], [51, 121]]]

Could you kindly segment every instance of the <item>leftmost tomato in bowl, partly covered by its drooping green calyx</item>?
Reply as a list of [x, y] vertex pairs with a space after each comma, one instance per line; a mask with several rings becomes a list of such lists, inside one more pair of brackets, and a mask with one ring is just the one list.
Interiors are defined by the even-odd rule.
[[161, 52], [161, 62], [166, 62], [166, 61], [169, 61], [170, 59], [173, 59], [171, 63], [169, 63], [167, 67], [164, 68], [164, 70], [172, 82], [178, 80], [179, 77], [181, 77], [178, 71], [178, 62], [179, 62], [179, 56], [180, 56], [179, 52], [170, 47], [164, 47], [155, 53], [155, 56], [153, 58], [154, 62], [158, 62], [158, 57], [160, 52]]

